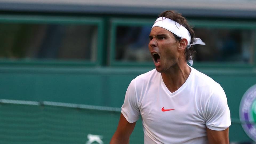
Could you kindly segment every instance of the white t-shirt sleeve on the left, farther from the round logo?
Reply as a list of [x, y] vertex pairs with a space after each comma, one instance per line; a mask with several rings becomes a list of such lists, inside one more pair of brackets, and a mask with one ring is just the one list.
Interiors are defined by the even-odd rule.
[[139, 107], [136, 94], [135, 79], [131, 81], [127, 88], [121, 113], [130, 123], [136, 122], [139, 119]]

